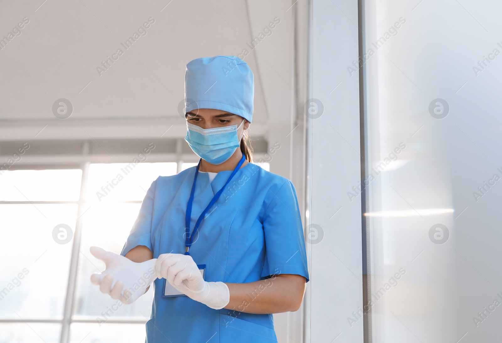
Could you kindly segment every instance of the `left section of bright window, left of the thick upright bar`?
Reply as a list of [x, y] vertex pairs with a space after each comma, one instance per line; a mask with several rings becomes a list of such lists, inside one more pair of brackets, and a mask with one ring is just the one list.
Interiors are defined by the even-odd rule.
[[74, 229], [81, 178], [81, 169], [0, 177], [0, 341], [59, 341], [72, 246], [56, 242], [67, 233], [55, 228]]

